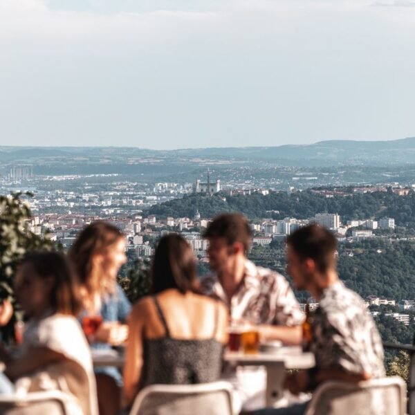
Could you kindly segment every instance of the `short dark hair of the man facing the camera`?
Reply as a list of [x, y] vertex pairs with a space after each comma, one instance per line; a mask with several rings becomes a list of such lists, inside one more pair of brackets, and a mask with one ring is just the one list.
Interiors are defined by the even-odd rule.
[[243, 214], [224, 213], [216, 216], [208, 225], [203, 237], [224, 238], [228, 245], [240, 242], [247, 252], [252, 243], [252, 232], [249, 223]]

